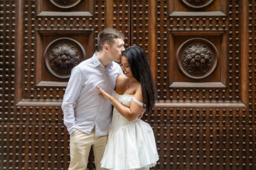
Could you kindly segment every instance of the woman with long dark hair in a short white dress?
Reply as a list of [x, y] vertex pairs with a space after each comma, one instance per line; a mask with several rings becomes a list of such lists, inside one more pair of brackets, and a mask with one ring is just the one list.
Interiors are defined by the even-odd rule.
[[155, 104], [154, 81], [145, 52], [130, 46], [122, 53], [124, 75], [116, 78], [113, 96], [99, 86], [100, 96], [113, 106], [101, 167], [113, 170], [149, 169], [159, 159], [154, 132], [150, 125], [140, 120], [141, 111], [152, 111]]

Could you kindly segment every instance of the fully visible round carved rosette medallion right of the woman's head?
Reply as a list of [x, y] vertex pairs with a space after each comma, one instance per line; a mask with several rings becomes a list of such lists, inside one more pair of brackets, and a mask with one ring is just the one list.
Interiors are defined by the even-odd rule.
[[202, 79], [217, 66], [217, 48], [207, 39], [191, 38], [177, 50], [177, 62], [182, 73], [193, 79]]

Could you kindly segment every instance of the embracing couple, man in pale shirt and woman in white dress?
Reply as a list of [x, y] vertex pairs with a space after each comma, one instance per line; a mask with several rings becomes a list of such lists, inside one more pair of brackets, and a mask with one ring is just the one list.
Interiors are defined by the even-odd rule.
[[159, 157], [154, 132], [140, 119], [155, 103], [147, 56], [138, 46], [125, 49], [116, 29], [99, 32], [97, 45], [99, 52], [72, 69], [61, 106], [68, 169], [85, 170], [91, 148], [97, 170], [149, 169]]

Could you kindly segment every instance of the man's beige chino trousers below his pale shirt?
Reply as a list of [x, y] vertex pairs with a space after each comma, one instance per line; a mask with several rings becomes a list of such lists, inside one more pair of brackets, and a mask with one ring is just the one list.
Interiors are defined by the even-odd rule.
[[95, 129], [90, 134], [75, 130], [70, 136], [70, 164], [68, 170], [86, 170], [88, 157], [93, 146], [94, 162], [97, 170], [103, 170], [100, 167], [108, 135], [95, 136]]

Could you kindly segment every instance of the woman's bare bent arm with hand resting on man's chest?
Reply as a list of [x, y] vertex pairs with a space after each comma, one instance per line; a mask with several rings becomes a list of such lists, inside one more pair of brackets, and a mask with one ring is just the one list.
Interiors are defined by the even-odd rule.
[[[141, 112], [144, 110], [142, 106], [139, 104], [135, 103], [134, 101], [131, 101], [131, 106], [130, 108], [127, 106], [124, 106], [124, 104], [120, 103], [115, 97], [109, 95], [107, 92], [102, 90], [99, 86], [97, 86], [98, 89], [100, 90], [100, 96], [104, 97], [105, 99], [109, 100], [113, 106], [116, 108], [116, 110], [123, 115], [127, 120], [132, 121], [141, 115]], [[139, 87], [136, 90], [136, 93], [134, 94], [134, 97], [138, 101], [142, 101], [142, 92], [141, 92], [141, 87]]]

